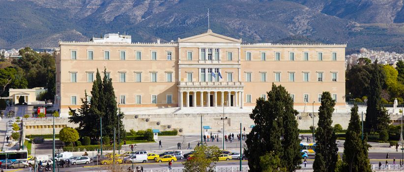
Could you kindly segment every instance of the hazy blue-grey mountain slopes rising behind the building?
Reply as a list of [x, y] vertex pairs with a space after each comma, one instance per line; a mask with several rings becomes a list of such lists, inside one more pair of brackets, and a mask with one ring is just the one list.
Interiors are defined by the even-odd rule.
[[0, 48], [125, 32], [133, 42], [207, 30], [243, 42], [346, 43], [404, 53], [403, 0], [0, 0]]

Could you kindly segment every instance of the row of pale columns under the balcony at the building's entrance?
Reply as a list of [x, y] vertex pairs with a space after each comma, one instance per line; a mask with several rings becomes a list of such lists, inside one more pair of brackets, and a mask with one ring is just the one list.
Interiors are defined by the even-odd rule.
[[[206, 92], [206, 107], [210, 107], [210, 93], [213, 92], [213, 107], [217, 107], [217, 94], [220, 92], [221, 94], [221, 103], [220, 107], [225, 106], [225, 92], [227, 92], [227, 103], [226, 106], [230, 107], [231, 106], [231, 95], [234, 95], [233, 97], [233, 106], [234, 107], [241, 107], [243, 108], [244, 106], [244, 92], [243, 91], [180, 91], [179, 92], [179, 107], [182, 108], [184, 107], [183, 105], [183, 95], [185, 95], [186, 99], [186, 107], [190, 107], [190, 100], [189, 100], [189, 95], [193, 94], [192, 96], [192, 107], [197, 107], [197, 93], [199, 92], [200, 94], [200, 107], [203, 107], [203, 94]], [[231, 94], [231, 92], [234, 92], [234, 94]]]

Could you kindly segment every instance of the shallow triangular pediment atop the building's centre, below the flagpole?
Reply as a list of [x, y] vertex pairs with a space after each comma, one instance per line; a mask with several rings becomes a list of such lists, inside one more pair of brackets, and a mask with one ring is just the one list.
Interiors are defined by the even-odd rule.
[[178, 42], [192, 42], [192, 43], [241, 43], [241, 39], [234, 39], [228, 36], [213, 33], [208, 30], [205, 33], [180, 39]]

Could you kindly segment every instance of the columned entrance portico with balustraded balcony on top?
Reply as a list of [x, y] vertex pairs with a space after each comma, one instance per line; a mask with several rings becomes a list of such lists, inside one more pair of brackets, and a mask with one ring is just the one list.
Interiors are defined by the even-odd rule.
[[243, 108], [242, 82], [180, 82], [179, 107]]

